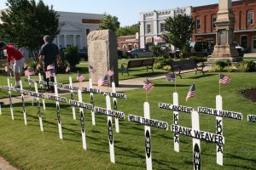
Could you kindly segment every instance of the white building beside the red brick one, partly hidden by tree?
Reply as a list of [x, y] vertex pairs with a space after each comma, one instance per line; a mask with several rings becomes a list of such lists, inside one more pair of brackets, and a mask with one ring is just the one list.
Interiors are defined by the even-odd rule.
[[[148, 48], [152, 44], [168, 45], [160, 37], [165, 32], [165, 20], [176, 14], [187, 14], [191, 16], [191, 8], [189, 6], [140, 13], [140, 47]], [[171, 46], [171, 48], [173, 49], [174, 47]]]

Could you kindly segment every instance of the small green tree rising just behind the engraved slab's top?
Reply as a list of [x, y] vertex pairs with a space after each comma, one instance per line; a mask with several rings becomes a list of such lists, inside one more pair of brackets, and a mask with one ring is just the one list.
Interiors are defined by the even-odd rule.
[[112, 31], [117, 31], [120, 23], [118, 17], [105, 13], [99, 26], [102, 30], [110, 29]]

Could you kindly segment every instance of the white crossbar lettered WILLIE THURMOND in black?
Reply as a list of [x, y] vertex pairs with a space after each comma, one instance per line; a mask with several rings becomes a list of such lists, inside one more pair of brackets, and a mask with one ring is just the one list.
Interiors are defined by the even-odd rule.
[[135, 116], [135, 115], [128, 115], [128, 120], [129, 122], [137, 122], [143, 125], [147, 125], [149, 127], [157, 127], [161, 129], [168, 130], [168, 123], [167, 122], [162, 122], [154, 119], [148, 119], [143, 116]]

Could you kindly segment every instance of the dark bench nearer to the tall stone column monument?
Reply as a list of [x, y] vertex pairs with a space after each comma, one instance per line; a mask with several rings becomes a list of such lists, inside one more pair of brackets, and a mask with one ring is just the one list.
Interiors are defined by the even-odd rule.
[[171, 61], [170, 65], [172, 67], [173, 74], [175, 74], [175, 71], [178, 71], [177, 74], [179, 75], [180, 78], [183, 78], [181, 77], [181, 74], [193, 71], [195, 71], [195, 74], [197, 73], [197, 71], [202, 71], [202, 73], [205, 74], [205, 72], [203, 71], [205, 64], [202, 62], [201, 65], [198, 65], [194, 59]]

